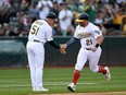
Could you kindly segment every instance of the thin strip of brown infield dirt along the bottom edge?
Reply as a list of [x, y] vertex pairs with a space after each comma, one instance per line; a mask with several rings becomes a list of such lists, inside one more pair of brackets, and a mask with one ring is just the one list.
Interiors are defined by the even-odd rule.
[[126, 92], [68, 93], [68, 94], [37, 94], [37, 95], [126, 95]]

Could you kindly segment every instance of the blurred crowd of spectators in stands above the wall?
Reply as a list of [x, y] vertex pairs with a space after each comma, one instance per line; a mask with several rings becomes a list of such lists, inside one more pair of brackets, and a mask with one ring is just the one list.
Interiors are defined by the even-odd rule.
[[126, 0], [0, 0], [0, 36], [27, 36], [32, 23], [50, 11], [59, 19], [54, 36], [72, 36], [81, 12], [103, 35], [126, 36]]

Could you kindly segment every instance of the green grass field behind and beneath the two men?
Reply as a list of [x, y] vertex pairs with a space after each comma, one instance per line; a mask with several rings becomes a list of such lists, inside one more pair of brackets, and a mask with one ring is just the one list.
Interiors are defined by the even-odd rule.
[[[43, 86], [49, 92], [33, 92], [28, 69], [0, 69], [0, 95], [33, 95], [71, 93], [66, 86], [73, 79], [73, 68], [45, 68]], [[126, 67], [111, 67], [112, 80], [106, 81], [89, 68], [81, 71], [75, 93], [126, 92]]]

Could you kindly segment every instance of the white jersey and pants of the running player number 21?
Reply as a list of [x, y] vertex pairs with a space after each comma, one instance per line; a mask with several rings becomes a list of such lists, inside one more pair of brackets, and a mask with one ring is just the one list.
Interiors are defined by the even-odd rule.
[[94, 52], [86, 48], [94, 47], [97, 44], [97, 38], [101, 35], [101, 31], [92, 23], [89, 23], [86, 27], [83, 27], [80, 25], [76, 27], [74, 37], [80, 38], [81, 48], [77, 56], [75, 70], [80, 71], [84, 68], [86, 61], [89, 60], [90, 70], [93, 72], [98, 72], [98, 62], [101, 55], [101, 48], [98, 47]]

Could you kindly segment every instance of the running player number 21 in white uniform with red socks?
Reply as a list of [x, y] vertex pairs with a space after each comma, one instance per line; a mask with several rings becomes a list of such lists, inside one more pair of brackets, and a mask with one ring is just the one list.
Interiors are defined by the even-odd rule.
[[76, 20], [78, 25], [75, 29], [74, 37], [72, 37], [66, 44], [61, 45], [62, 48], [65, 49], [74, 40], [80, 39], [81, 48], [77, 56], [73, 82], [67, 86], [71, 92], [76, 91], [76, 83], [87, 60], [89, 60], [89, 67], [92, 72], [103, 73], [106, 80], [111, 79], [109, 68], [98, 66], [102, 51], [100, 45], [103, 41], [103, 35], [101, 31], [88, 20], [88, 14], [81, 13]]

